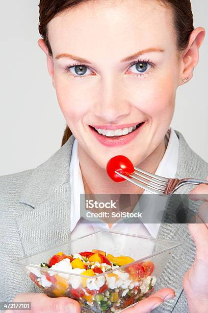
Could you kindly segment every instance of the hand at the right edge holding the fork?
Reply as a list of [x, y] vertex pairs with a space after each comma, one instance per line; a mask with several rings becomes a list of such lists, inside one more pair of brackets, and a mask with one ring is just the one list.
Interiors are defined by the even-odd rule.
[[192, 200], [202, 200], [197, 223], [188, 225], [196, 245], [196, 256], [184, 276], [189, 312], [206, 313], [208, 308], [208, 186], [201, 184], [189, 193]]

